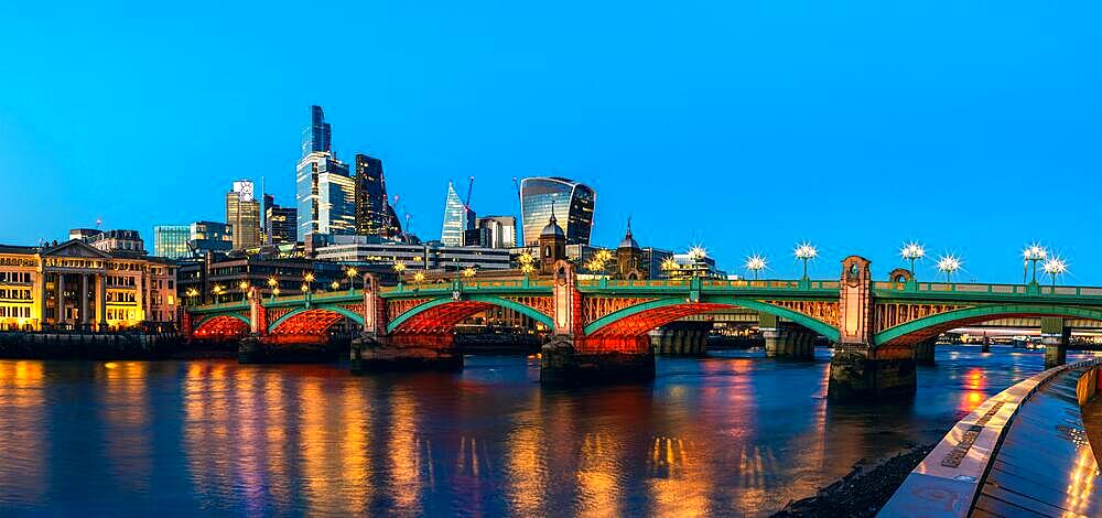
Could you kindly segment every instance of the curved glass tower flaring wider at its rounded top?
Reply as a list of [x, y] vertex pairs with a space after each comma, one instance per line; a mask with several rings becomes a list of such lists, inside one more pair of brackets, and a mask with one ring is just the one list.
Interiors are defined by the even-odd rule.
[[559, 176], [531, 177], [520, 182], [520, 217], [525, 246], [539, 244], [540, 231], [551, 217], [566, 222], [566, 244], [588, 245], [597, 193], [590, 186]]

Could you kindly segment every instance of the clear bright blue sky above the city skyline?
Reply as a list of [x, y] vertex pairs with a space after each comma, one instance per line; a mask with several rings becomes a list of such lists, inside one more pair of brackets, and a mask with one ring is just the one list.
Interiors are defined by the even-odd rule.
[[240, 177], [290, 203], [320, 104], [424, 238], [449, 180], [498, 214], [554, 173], [597, 190], [596, 244], [630, 215], [732, 272], [795, 277], [811, 240], [815, 277], [883, 277], [918, 239], [1020, 281], [1037, 240], [1102, 284], [1098, 2], [188, 3], [0, 6], [0, 242], [151, 241]]

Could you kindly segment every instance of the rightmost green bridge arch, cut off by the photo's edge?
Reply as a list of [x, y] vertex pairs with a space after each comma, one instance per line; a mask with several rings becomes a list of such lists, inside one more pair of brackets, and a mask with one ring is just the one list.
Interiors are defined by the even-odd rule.
[[1102, 321], [1102, 309], [1057, 304], [990, 304], [947, 311], [884, 330], [873, 336], [877, 347], [909, 347], [946, 331], [1015, 316], [1062, 316]]

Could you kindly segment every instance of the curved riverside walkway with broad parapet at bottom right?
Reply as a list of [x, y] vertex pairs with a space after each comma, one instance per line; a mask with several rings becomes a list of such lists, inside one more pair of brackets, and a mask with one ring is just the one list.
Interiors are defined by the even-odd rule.
[[1081, 412], [1098, 392], [1100, 366], [1102, 359], [1055, 367], [985, 401], [878, 516], [1102, 516], [1099, 465]]

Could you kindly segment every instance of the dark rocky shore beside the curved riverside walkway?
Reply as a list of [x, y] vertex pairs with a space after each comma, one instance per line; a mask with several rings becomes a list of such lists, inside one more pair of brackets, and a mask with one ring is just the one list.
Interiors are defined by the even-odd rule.
[[773, 516], [876, 516], [904, 478], [933, 451], [934, 445], [937, 443], [914, 446], [871, 467], [864, 465], [864, 460], [858, 461], [853, 471], [820, 489], [815, 496], [791, 501]]

